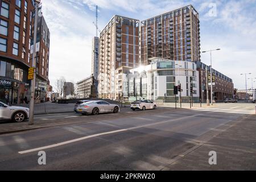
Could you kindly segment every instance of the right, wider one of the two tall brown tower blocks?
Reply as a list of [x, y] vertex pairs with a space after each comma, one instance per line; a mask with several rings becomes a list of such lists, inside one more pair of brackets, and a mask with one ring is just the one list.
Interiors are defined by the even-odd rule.
[[141, 64], [151, 57], [200, 61], [200, 21], [192, 5], [141, 22]]

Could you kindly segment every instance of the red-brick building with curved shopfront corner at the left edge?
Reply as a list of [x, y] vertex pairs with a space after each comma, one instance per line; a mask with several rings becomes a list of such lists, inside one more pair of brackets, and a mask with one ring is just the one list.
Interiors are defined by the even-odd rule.
[[0, 0], [0, 101], [19, 104], [29, 97], [27, 80], [34, 1]]

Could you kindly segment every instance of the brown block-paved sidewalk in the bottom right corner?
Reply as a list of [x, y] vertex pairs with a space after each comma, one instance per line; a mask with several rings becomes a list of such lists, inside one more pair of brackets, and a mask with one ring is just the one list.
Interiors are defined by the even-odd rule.
[[[165, 170], [256, 170], [256, 115], [231, 124]], [[209, 165], [209, 151], [216, 151], [217, 165]]]

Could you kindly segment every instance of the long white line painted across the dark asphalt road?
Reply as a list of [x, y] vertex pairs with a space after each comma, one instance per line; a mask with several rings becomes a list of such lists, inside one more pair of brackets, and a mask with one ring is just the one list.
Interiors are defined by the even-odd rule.
[[[204, 113], [204, 114], [205, 114], [205, 113]], [[167, 122], [171, 122], [171, 121], [177, 121], [177, 120], [180, 120], [180, 119], [196, 117], [196, 116], [198, 116], [198, 115], [203, 115], [203, 114], [189, 115], [189, 116], [187, 116], [187, 117], [176, 118], [176, 119], [170, 119], [170, 120], [167, 120], [167, 121], [161, 121], [161, 122], [151, 123], [151, 124], [147, 124], [147, 125], [129, 127], [129, 128], [127, 128], [127, 129], [114, 130], [114, 131], [109, 131], [109, 132], [105, 132], [105, 133], [99, 133], [99, 134], [89, 135], [89, 136], [86, 136], [86, 137], [81, 137], [81, 138], [76, 138], [76, 139], [68, 140], [68, 141], [66, 141], [66, 142], [60, 142], [60, 143], [56, 143], [56, 144], [51, 144], [51, 145], [49, 145], [49, 146], [38, 147], [38, 148], [32, 148], [32, 149], [30, 149], [30, 150], [25, 150], [25, 151], [19, 151], [18, 153], [19, 153], [19, 154], [26, 154], [26, 153], [35, 152], [35, 151], [46, 150], [46, 149], [48, 149], [48, 148], [59, 147], [59, 146], [65, 145], [65, 144], [69, 144], [69, 143], [73, 143], [73, 142], [79, 142], [79, 141], [81, 141], [81, 140], [85, 140], [85, 139], [89, 139], [89, 138], [94, 138], [94, 137], [99, 137], [99, 136], [102, 136], [102, 135], [120, 133], [120, 132], [123, 132], [123, 131], [129, 131], [129, 130], [135, 130], [135, 129], [140, 129], [140, 128], [142, 128], [142, 127], [160, 125], [160, 124], [167, 123]]]

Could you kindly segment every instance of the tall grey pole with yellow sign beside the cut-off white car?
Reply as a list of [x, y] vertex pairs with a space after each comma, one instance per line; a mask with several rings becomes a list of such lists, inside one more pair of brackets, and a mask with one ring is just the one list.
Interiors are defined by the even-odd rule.
[[34, 42], [33, 42], [33, 57], [32, 67], [34, 69], [34, 78], [31, 80], [31, 98], [30, 98], [30, 115], [28, 125], [34, 125], [34, 106], [35, 106], [35, 79], [36, 79], [36, 34], [38, 30], [38, 6], [40, 0], [35, 1], [35, 26], [34, 26]]

